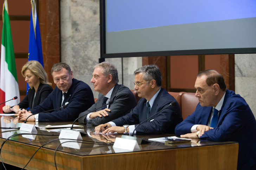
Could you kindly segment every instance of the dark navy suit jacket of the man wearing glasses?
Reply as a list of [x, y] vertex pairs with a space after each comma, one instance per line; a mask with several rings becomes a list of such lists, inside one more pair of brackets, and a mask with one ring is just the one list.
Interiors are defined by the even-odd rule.
[[[167, 107], [172, 101], [176, 101], [175, 98], [171, 96], [165, 89], [161, 88], [155, 98], [148, 117]], [[130, 111], [130, 113], [117, 118], [112, 122], [114, 122], [117, 126], [129, 124], [135, 125], [136, 127], [140, 122], [146, 120], [146, 102], [147, 100], [142, 98], [138, 102], [137, 106]], [[160, 111], [160, 113], [152, 117], [151, 120], [148, 120], [147, 122], [144, 122], [138, 126], [136, 128], [136, 134], [174, 134], [175, 126], [183, 120], [178, 102], [176, 101], [176, 105]]]

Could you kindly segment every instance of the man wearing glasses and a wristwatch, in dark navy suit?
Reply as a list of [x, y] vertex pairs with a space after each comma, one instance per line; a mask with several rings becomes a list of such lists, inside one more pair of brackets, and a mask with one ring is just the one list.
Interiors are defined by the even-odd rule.
[[[138, 96], [143, 98], [130, 113], [112, 122], [95, 127], [95, 132], [99, 133], [103, 130], [103, 134], [108, 134], [109, 132], [132, 133], [139, 123], [160, 111], [159, 114], [139, 125], [136, 128], [136, 133], [173, 134], [175, 126], [183, 119], [178, 102], [165, 89], [161, 88], [162, 76], [158, 66], [143, 66], [135, 70], [134, 75], [134, 89], [137, 91]], [[167, 107], [172, 101], [175, 101], [174, 106]]]

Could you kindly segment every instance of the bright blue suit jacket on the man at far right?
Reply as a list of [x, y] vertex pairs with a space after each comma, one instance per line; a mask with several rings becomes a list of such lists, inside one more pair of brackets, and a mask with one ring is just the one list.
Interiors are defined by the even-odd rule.
[[[191, 133], [194, 124], [207, 125], [212, 107], [197, 105], [196, 111], [175, 128], [176, 135]], [[216, 128], [206, 131], [200, 139], [239, 142], [237, 169], [250, 169], [256, 164], [256, 121], [245, 100], [226, 90]]]

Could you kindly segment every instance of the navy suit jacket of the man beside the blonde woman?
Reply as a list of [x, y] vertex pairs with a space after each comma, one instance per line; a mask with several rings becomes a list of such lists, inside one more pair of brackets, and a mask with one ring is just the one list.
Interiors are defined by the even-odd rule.
[[[72, 79], [72, 85], [67, 92], [67, 96], [63, 103], [69, 102], [65, 109], [57, 109], [51, 113], [41, 113], [38, 121], [74, 121], [79, 113], [87, 110], [94, 104], [94, 96], [88, 84]], [[44, 100], [43, 103], [31, 109], [31, 113], [39, 113], [61, 107], [62, 91], [55, 87], [52, 93]]]

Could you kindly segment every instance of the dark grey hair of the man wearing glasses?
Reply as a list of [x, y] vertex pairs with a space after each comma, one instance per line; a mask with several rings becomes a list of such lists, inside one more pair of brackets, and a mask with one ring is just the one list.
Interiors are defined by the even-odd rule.
[[[136, 69], [133, 74], [139, 74], [143, 73], [143, 79], [144, 80], [155, 80], [156, 86], [161, 87], [162, 86], [162, 74], [158, 66], [156, 65], [145, 65], [138, 69]], [[149, 84], [149, 82], [147, 82]]]

